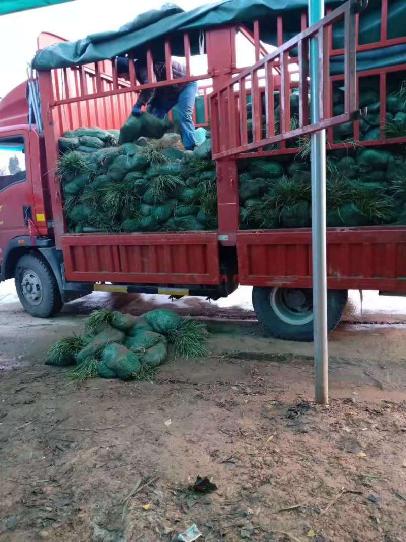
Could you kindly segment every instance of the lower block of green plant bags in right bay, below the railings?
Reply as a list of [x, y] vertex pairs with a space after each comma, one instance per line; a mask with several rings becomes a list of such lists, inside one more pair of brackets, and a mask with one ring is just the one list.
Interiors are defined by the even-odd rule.
[[[406, 160], [401, 147], [329, 153], [329, 226], [404, 221]], [[261, 175], [261, 177], [258, 177]], [[250, 160], [240, 173], [240, 228], [300, 228], [311, 225], [309, 156]], [[402, 214], [403, 213], [403, 214]]]

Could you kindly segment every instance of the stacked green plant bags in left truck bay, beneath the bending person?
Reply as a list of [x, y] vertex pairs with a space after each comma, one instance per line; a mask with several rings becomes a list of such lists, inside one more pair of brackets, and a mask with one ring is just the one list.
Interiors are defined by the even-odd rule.
[[194, 153], [148, 113], [120, 133], [79, 128], [60, 138], [57, 175], [69, 230], [182, 231], [217, 228], [211, 143]]

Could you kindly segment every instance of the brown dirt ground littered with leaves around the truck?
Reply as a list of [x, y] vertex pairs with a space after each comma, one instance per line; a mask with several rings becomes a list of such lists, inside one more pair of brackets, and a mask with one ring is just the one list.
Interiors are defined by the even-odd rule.
[[[401, 310], [349, 306], [325, 407], [312, 345], [266, 337], [240, 301], [171, 305], [207, 319], [206, 359], [153, 383], [72, 384], [45, 352], [100, 306], [151, 308], [101, 294], [38, 321], [0, 289], [1, 542], [169, 542], [192, 524], [211, 542], [406, 540]], [[193, 491], [198, 476], [217, 489]]]

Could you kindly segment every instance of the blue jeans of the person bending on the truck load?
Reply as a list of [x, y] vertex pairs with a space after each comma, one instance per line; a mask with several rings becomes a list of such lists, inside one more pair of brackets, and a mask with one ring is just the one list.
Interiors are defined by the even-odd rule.
[[152, 111], [148, 109], [154, 117], [163, 119], [165, 118], [165, 115], [171, 111], [172, 107], [176, 105], [176, 102], [178, 102], [180, 135], [185, 147], [194, 147], [196, 145], [196, 140], [194, 138], [193, 108], [197, 92], [197, 81], [191, 81], [190, 83], [187, 83], [178, 98], [175, 96], [173, 98], [165, 98], [165, 96], [162, 96], [159, 103], [155, 104], [152, 108]]

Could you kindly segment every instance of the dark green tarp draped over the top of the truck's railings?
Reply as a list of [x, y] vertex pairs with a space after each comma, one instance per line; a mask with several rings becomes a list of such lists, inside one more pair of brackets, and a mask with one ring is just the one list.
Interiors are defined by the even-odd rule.
[[[342, 3], [342, 0], [326, 0], [332, 7]], [[163, 55], [164, 37], [171, 36], [172, 54], [184, 55], [183, 34], [189, 33], [192, 53], [199, 53], [199, 44], [203, 36], [202, 30], [242, 23], [252, 28], [255, 20], [261, 22], [260, 37], [265, 43], [277, 44], [276, 16], [286, 14], [283, 18], [284, 40], [300, 32], [300, 15], [307, 9], [307, 0], [222, 0], [184, 11], [174, 4], [165, 4], [160, 10], [150, 10], [137, 16], [132, 22], [117, 31], [91, 34], [75, 42], [58, 43], [37, 53], [33, 61], [35, 69], [65, 68], [90, 62], [98, 62], [115, 56], [132, 52], [145, 55], [145, 50], [152, 47], [154, 58]], [[406, 20], [405, 0], [392, 0], [388, 13], [388, 38], [405, 35]], [[371, 0], [368, 9], [359, 21], [359, 43], [369, 43], [379, 40], [381, 28], [381, 0]], [[333, 29], [335, 47], [342, 47], [343, 27], [336, 24]], [[388, 48], [389, 49], [389, 48]], [[389, 54], [387, 49], [375, 51], [374, 57], [367, 59], [363, 69], [388, 65], [390, 59], [396, 62], [406, 62], [406, 46], [396, 55]], [[388, 59], [387, 59], [388, 57]], [[341, 69], [342, 59], [337, 59], [335, 69]], [[338, 73], [338, 72], [336, 72]]]

